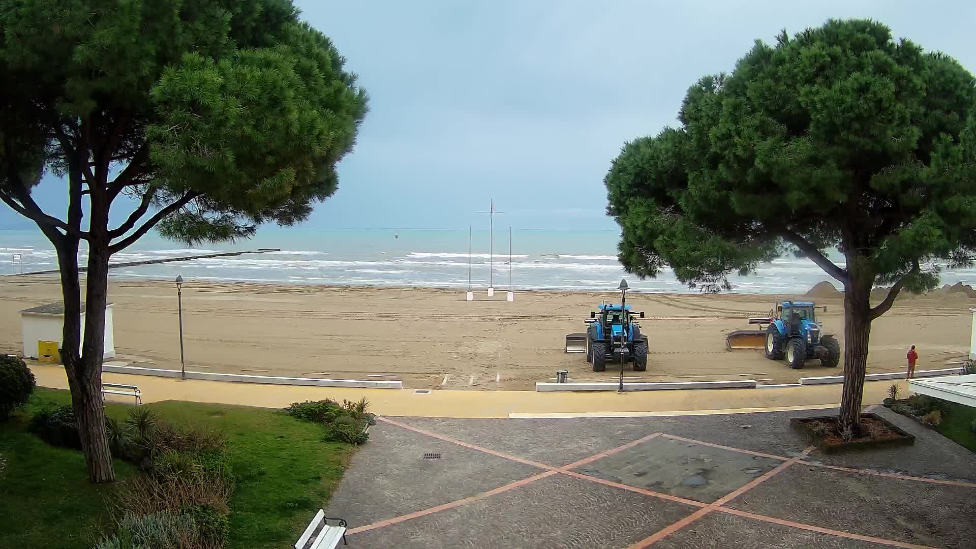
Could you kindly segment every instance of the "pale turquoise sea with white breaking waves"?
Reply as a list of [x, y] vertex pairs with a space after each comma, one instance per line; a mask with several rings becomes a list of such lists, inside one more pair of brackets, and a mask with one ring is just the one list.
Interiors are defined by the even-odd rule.
[[[113, 269], [115, 277], [185, 279], [220, 282], [255, 281], [342, 286], [421, 286], [473, 289], [614, 290], [627, 278], [632, 291], [697, 292], [675, 279], [671, 270], [641, 280], [617, 261], [619, 232], [468, 229], [324, 230], [263, 228], [250, 240], [190, 248], [155, 233], [143, 236], [112, 263], [279, 248], [263, 254], [196, 259], [176, 263]], [[15, 260], [15, 256], [20, 259]], [[79, 263], [84, 265], [85, 250]], [[509, 261], [510, 257], [510, 261]], [[843, 267], [843, 256], [832, 254]], [[39, 232], [0, 231], [0, 274], [57, 269], [51, 243]], [[759, 266], [750, 276], [730, 276], [733, 292], [802, 293], [830, 280], [812, 261], [783, 257]], [[943, 271], [943, 283], [973, 283], [976, 271]]]

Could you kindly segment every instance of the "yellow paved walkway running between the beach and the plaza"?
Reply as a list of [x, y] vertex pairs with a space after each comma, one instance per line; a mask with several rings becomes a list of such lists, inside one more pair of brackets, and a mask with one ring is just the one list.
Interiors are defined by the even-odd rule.
[[[61, 366], [32, 365], [37, 385], [67, 389]], [[560, 415], [692, 415], [832, 407], [840, 401], [838, 385], [788, 389], [714, 389], [697, 391], [635, 391], [612, 393], [536, 393], [532, 391], [438, 391], [346, 389], [294, 385], [259, 385], [222, 381], [179, 380], [131, 374], [103, 373], [107, 383], [138, 385], [143, 402], [197, 401], [281, 408], [295, 401], [358, 401], [365, 397], [374, 413], [390, 416], [509, 417]], [[864, 403], [876, 404], [887, 395], [891, 381], [865, 383]], [[904, 381], [898, 382], [908, 394]], [[111, 401], [131, 402], [119, 396]], [[635, 413], [621, 413], [635, 412]], [[523, 415], [524, 414], [524, 415]]]

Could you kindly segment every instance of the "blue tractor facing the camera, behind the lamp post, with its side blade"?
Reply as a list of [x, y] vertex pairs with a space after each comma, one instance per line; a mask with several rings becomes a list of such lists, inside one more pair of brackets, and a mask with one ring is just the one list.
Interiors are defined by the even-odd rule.
[[640, 333], [634, 317], [644, 312], [630, 313], [630, 305], [601, 304], [599, 311], [590, 311], [586, 319], [586, 333], [566, 336], [566, 353], [586, 353], [594, 372], [606, 369], [607, 359], [633, 362], [633, 370], [647, 369], [647, 336]]

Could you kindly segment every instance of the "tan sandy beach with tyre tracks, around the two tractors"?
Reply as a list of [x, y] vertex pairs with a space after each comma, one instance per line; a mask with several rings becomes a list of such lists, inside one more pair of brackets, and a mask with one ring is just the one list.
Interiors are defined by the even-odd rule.
[[[180, 367], [177, 296], [172, 283], [113, 278], [118, 360], [135, 365]], [[466, 302], [456, 290], [340, 288], [188, 281], [183, 286], [187, 364], [203, 371], [401, 379], [422, 389], [531, 390], [537, 381], [567, 369], [575, 381], [612, 381], [618, 369], [592, 372], [582, 355], [562, 352], [563, 336], [583, 331], [583, 319], [619, 293], [476, 293]], [[756, 379], [793, 383], [798, 377], [834, 375], [810, 360], [803, 370], [763, 359], [760, 351], [725, 351], [725, 333], [746, 329], [748, 317], [764, 316], [773, 295], [633, 294], [644, 311], [649, 336], [646, 372], [633, 381]], [[785, 299], [790, 296], [779, 296]], [[792, 296], [798, 298], [801, 296]], [[23, 309], [60, 300], [56, 278], [0, 278], [0, 352], [20, 354]], [[843, 345], [842, 303], [828, 306], [825, 333]], [[968, 352], [969, 307], [965, 293], [936, 292], [899, 300], [874, 321], [869, 373], [905, 368], [915, 344], [918, 368], [943, 367]]]

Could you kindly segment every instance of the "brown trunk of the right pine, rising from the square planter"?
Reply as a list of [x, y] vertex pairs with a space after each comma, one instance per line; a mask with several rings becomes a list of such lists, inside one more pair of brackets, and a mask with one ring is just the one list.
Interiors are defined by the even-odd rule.
[[839, 425], [861, 432], [861, 401], [868, 370], [871, 338], [871, 288], [874, 274], [864, 269], [864, 258], [848, 254], [849, 280], [844, 285], [844, 387]]

